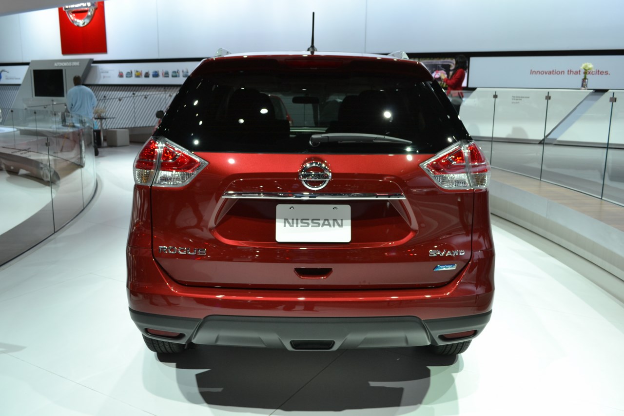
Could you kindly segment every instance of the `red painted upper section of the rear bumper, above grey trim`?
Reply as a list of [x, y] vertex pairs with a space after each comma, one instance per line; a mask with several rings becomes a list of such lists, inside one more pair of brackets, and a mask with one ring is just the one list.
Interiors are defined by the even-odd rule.
[[477, 315], [492, 309], [494, 250], [472, 253], [449, 284], [420, 289], [276, 290], [192, 287], [171, 279], [150, 249], [129, 247], [130, 309], [203, 319], [210, 315], [265, 317], [388, 317], [422, 320]]

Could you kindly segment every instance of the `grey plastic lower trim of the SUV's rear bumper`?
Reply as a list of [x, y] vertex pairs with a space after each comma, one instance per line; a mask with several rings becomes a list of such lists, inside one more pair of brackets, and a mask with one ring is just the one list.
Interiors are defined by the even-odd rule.
[[[490, 320], [491, 311], [479, 315], [421, 320], [417, 317], [283, 318], [210, 315], [189, 319], [145, 314], [130, 309], [139, 330], [154, 339], [180, 344], [228, 345], [288, 350], [442, 345], [476, 337]], [[150, 334], [147, 329], [179, 332], [176, 339]], [[443, 335], [474, 331], [461, 339]]]

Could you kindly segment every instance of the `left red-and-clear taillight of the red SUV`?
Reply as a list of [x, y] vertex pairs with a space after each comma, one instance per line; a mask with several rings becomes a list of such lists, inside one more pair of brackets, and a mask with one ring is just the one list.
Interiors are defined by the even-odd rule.
[[150, 137], [134, 161], [134, 183], [152, 186], [184, 186], [208, 162], [169, 142]]

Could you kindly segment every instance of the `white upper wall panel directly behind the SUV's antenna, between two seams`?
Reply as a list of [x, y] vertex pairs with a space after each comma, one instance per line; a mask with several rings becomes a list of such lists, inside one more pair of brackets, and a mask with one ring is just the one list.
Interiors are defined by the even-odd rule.
[[161, 57], [212, 56], [220, 47], [302, 51], [310, 46], [313, 11], [319, 49], [364, 51], [365, 0], [195, 0], [183, 9], [172, 8], [170, 0], [157, 3]]

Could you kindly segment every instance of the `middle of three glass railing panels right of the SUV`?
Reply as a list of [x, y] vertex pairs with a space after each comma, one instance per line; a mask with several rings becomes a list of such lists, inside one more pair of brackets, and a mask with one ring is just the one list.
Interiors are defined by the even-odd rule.
[[[583, 92], [576, 96], [580, 94]], [[609, 134], [610, 95], [593, 93], [571, 111], [560, 126], [548, 132], [542, 169], [544, 181], [600, 197]], [[560, 98], [561, 104], [555, 97], [551, 100], [549, 116], [551, 107], [570, 107], [576, 102], [572, 92]]]

